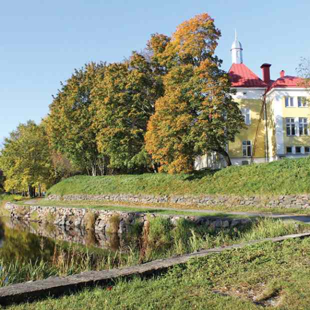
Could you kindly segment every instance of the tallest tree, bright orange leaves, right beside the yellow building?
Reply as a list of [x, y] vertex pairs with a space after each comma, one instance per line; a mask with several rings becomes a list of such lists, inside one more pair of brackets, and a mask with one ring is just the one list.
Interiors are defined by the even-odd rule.
[[228, 75], [214, 54], [220, 31], [206, 13], [181, 23], [168, 38], [152, 35], [151, 59], [163, 72], [164, 95], [155, 103], [145, 135], [146, 150], [161, 170], [187, 172], [194, 158], [225, 150], [243, 126]]

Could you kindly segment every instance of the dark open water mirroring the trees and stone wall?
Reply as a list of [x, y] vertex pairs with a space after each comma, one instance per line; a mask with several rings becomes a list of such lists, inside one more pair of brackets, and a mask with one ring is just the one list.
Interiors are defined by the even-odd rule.
[[48, 261], [54, 255], [56, 243], [65, 247], [68, 242], [96, 250], [126, 250], [125, 241], [117, 233], [94, 233], [79, 228], [0, 217], [0, 258], [3, 262]]

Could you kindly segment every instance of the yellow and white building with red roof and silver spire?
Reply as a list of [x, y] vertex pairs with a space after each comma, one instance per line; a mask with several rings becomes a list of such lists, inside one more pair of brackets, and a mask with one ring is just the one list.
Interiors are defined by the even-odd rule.
[[[227, 144], [232, 164], [269, 162], [283, 157], [297, 158], [310, 154], [309, 89], [301, 78], [285, 75], [270, 79], [271, 64], [263, 63], [259, 78], [244, 63], [242, 45], [235, 39], [231, 46], [232, 65], [228, 71], [244, 116], [245, 128]], [[259, 124], [259, 125], [258, 125]], [[220, 168], [225, 161], [217, 154], [196, 158], [195, 168]]]

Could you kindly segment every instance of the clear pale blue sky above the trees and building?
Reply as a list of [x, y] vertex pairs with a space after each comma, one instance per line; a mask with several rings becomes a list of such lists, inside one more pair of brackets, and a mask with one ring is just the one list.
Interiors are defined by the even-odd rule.
[[310, 1], [297, 0], [3, 0], [0, 2], [0, 141], [19, 122], [40, 121], [51, 95], [73, 68], [120, 61], [151, 33], [171, 34], [185, 19], [208, 12], [221, 30], [223, 68], [237, 29], [243, 62], [260, 76], [294, 75], [309, 56]]

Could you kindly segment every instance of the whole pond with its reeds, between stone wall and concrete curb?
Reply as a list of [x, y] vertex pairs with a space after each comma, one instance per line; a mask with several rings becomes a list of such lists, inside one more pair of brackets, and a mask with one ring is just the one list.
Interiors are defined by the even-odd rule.
[[125, 234], [0, 217], [0, 286], [86, 270], [139, 264], [232, 243], [305, 230], [303, 224], [259, 218], [246, 226], [210, 228], [155, 217]]

